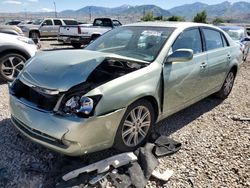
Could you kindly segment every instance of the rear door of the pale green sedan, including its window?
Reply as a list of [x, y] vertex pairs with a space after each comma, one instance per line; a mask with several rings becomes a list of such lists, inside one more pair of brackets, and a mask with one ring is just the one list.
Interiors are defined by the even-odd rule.
[[207, 51], [207, 70], [201, 88], [204, 92], [211, 93], [224, 82], [227, 66], [231, 60], [230, 47], [226, 38], [219, 30], [202, 28]]

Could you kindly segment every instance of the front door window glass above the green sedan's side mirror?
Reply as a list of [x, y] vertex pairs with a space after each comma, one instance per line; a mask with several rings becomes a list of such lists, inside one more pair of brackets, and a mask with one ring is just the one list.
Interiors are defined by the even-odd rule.
[[174, 42], [172, 52], [183, 48], [193, 50], [194, 54], [202, 52], [202, 42], [198, 28], [183, 31]]

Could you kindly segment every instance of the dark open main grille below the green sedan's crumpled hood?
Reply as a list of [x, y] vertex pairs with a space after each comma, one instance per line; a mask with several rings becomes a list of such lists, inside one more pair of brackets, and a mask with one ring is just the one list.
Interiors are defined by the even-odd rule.
[[36, 91], [34, 88], [25, 85], [20, 80], [16, 80], [10, 88], [13, 96], [20, 100], [26, 100], [35, 107], [45, 111], [53, 111], [59, 95], [49, 95]]

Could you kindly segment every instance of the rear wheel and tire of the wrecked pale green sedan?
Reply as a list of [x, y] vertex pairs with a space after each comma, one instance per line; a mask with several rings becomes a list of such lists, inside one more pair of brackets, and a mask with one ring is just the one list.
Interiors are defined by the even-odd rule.
[[226, 99], [228, 95], [231, 93], [236, 73], [233, 70], [227, 74], [227, 77], [220, 89], [215, 95], [221, 99]]

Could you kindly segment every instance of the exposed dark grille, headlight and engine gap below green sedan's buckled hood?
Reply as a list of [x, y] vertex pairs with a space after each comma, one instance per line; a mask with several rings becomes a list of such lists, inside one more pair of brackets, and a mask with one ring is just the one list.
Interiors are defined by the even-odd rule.
[[11, 85], [10, 94], [24, 104], [40, 111], [53, 112], [58, 115], [74, 114], [82, 118], [88, 118], [94, 115], [95, 106], [102, 98], [102, 95], [85, 96], [86, 93], [146, 65], [131, 60], [106, 57], [87, 78], [83, 78], [84, 82], [71, 87], [67, 91], [46, 89], [33, 85], [21, 75]]

